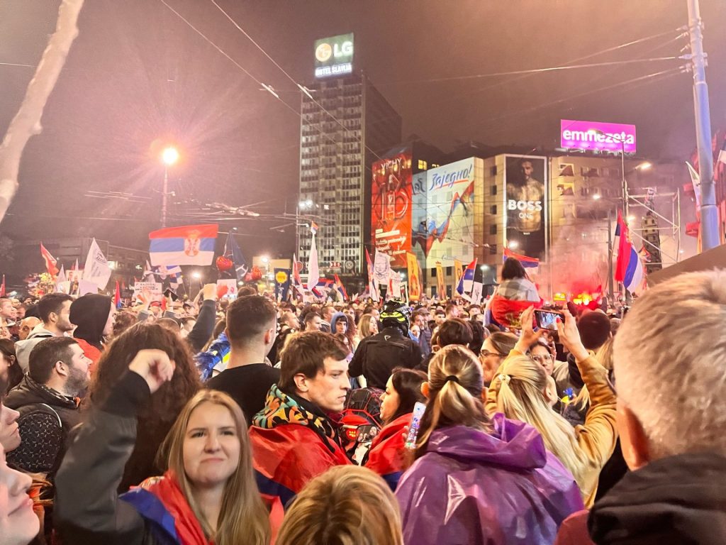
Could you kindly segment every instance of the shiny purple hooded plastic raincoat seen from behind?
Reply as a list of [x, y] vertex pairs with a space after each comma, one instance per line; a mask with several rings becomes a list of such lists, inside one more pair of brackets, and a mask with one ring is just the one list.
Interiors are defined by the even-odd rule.
[[492, 435], [437, 429], [396, 488], [406, 545], [551, 545], [583, 509], [574, 478], [529, 424], [492, 419]]

